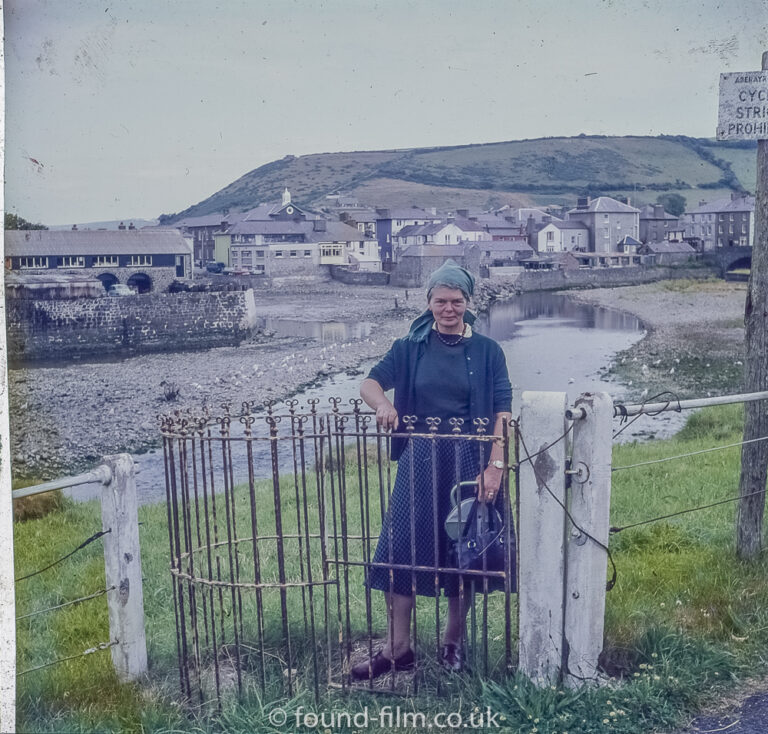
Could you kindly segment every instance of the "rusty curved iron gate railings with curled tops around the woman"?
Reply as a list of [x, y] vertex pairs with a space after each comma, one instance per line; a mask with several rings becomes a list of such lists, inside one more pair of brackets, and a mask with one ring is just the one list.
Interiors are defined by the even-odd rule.
[[[239, 411], [223, 406], [220, 415], [203, 410], [161, 418], [179, 678], [189, 699], [221, 702], [252, 689], [278, 697], [300, 688], [319, 698], [327, 687], [349, 687], [350, 667], [386, 635], [383, 595], [365, 580], [375, 567], [390, 569], [392, 578], [392, 565], [375, 563], [372, 552], [395, 481], [392, 436], [377, 430], [362, 401], [329, 403], [327, 412], [318, 400], [288, 400], [280, 409], [271, 403], [257, 411], [246, 402]], [[481, 471], [495, 440], [484, 421], [469, 433], [454, 420], [448, 435], [439, 433], [438, 419], [428, 419], [425, 433], [415, 430], [415, 416], [403, 423], [406, 430], [397, 435], [407, 439], [406, 451], [428, 442], [422, 445], [433, 476], [441, 443], [478, 447]], [[509, 469], [497, 504], [507, 543], [504, 569], [458, 576], [459, 593], [472, 601], [470, 664], [483, 677], [517, 664], [516, 423], [496, 440]], [[411, 470], [411, 512], [414, 497]], [[436, 527], [412, 527], [410, 541], [431, 539], [437, 559]], [[436, 589], [440, 579], [458, 574], [437, 560], [398, 568], [412, 578], [429, 574]], [[491, 585], [501, 591], [489, 593]], [[441, 607], [435, 596], [412, 615], [411, 644], [420, 659], [415, 673], [358, 685], [416, 693], [426, 682], [439, 690], [444, 676], [432, 659], [440, 648]]]

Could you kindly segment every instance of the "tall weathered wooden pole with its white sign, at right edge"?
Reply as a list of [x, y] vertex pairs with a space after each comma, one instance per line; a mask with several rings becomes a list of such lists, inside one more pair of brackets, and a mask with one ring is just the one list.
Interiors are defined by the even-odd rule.
[[[762, 71], [721, 75], [717, 137], [757, 139], [755, 233], [744, 311], [744, 392], [760, 392], [768, 390], [768, 51], [763, 54]], [[768, 401], [746, 403], [744, 441], [766, 436]], [[740, 558], [755, 558], [762, 549], [767, 473], [768, 440], [745, 443], [736, 521], [736, 552]]]

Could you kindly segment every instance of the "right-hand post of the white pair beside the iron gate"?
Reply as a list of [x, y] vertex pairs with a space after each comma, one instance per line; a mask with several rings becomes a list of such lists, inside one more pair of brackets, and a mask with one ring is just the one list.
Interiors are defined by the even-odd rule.
[[572, 412], [583, 417], [573, 426], [568, 490], [573, 522], [568, 521], [566, 534], [563, 672], [566, 685], [577, 687], [585, 679], [597, 679], [597, 659], [603, 649], [608, 556], [598, 542], [608, 545], [613, 400], [608, 393], [586, 393]]

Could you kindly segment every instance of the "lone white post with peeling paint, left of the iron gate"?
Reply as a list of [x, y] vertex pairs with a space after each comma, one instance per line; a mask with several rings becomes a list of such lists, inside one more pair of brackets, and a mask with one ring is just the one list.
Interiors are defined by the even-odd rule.
[[147, 671], [147, 642], [144, 633], [144, 594], [141, 584], [139, 517], [136, 477], [129, 454], [105, 456], [112, 479], [101, 493], [104, 536], [104, 570], [109, 602], [112, 663], [121, 681], [135, 680]]

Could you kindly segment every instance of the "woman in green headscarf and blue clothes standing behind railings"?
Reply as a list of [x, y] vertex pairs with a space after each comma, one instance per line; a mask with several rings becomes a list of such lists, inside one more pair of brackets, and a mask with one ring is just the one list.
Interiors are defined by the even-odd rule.
[[[429, 432], [434, 421], [428, 423], [427, 418], [440, 419], [438, 434], [452, 432], [457, 424], [452, 418], [463, 420], [462, 433], [474, 433], [474, 419], [485, 418], [493, 434], [501, 435], [502, 421], [511, 419], [512, 389], [501, 347], [472, 331], [475, 317], [467, 305], [473, 290], [471, 273], [453, 260], [433, 273], [427, 291], [428, 310], [413, 322], [407, 336], [394, 342], [360, 387], [360, 395], [376, 411], [381, 429], [397, 431], [399, 427], [402, 431], [402, 417], [415, 415], [416, 433]], [[392, 388], [394, 404], [385, 395]], [[482, 501], [492, 501], [499, 491], [504, 468], [502, 446], [492, 442], [489, 452], [488, 445], [449, 438], [392, 437], [397, 477], [367, 580], [371, 588], [385, 594], [389, 634], [371, 660], [352, 668], [352, 680], [376, 678], [393, 667], [413, 667], [412, 593], [435, 596], [435, 574], [391, 569], [387, 564], [445, 567], [447, 538], [443, 525], [450, 511], [451, 487], [475, 480]], [[448, 669], [460, 670], [469, 594], [460, 594], [458, 574], [443, 574], [439, 581], [448, 597], [441, 660]]]

